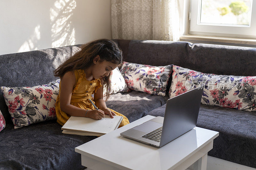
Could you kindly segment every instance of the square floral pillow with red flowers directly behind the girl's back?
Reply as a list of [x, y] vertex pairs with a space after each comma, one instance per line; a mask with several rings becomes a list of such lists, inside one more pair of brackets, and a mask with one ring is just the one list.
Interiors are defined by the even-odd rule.
[[55, 103], [60, 79], [34, 87], [1, 87], [14, 129], [56, 119]]

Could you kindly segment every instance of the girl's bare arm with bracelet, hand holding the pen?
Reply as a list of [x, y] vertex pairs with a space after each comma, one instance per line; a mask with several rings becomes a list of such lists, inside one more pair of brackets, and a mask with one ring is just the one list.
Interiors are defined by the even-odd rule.
[[[75, 84], [76, 76], [74, 71], [66, 72], [61, 78], [60, 109], [71, 116], [85, 117], [87, 110], [70, 104], [71, 95]], [[104, 112], [98, 110], [88, 110], [86, 117], [90, 117], [92, 119], [101, 119], [105, 116]]]

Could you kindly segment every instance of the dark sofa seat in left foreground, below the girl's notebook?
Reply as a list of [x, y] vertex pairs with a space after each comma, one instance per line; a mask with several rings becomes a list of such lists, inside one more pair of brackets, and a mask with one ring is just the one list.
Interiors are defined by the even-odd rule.
[[[7, 124], [0, 133], [0, 167], [3, 169], [81, 169], [81, 154], [75, 147], [94, 136], [61, 133], [50, 120], [14, 129]], [[0, 168], [0, 169], [1, 169]]]

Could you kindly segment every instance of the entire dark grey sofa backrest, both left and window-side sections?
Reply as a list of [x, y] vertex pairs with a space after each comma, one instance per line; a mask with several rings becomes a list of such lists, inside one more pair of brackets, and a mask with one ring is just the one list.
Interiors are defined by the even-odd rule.
[[[114, 41], [123, 50], [126, 62], [155, 66], [175, 64], [204, 73], [256, 76], [256, 48], [192, 44], [185, 41]], [[53, 71], [75, 54], [80, 46], [0, 55], [0, 86], [36, 86], [58, 79], [53, 76]], [[1, 92], [0, 110], [6, 123], [12, 123]]]

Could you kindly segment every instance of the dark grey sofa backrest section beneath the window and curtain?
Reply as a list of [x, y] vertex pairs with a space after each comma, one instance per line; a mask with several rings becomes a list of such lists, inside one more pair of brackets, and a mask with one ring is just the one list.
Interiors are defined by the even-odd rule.
[[256, 76], [256, 48], [186, 41], [115, 39], [124, 61], [155, 66], [169, 64], [219, 75]]

